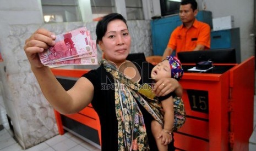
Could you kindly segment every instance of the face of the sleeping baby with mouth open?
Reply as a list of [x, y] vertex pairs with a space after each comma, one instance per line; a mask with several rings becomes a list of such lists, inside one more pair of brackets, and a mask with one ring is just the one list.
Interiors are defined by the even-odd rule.
[[151, 78], [156, 82], [161, 78], [171, 78], [171, 68], [168, 60], [158, 63], [151, 71]]

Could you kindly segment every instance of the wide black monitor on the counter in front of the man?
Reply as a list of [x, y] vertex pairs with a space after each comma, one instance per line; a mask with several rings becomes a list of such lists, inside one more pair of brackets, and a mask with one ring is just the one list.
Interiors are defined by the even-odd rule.
[[213, 63], [237, 63], [235, 48], [183, 51], [177, 55], [181, 63], [197, 63], [208, 60]]

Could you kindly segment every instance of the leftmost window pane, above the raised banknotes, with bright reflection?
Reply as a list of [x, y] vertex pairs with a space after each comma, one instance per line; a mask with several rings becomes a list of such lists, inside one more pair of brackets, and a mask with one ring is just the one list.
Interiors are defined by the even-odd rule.
[[78, 0], [41, 0], [45, 22], [81, 21]]

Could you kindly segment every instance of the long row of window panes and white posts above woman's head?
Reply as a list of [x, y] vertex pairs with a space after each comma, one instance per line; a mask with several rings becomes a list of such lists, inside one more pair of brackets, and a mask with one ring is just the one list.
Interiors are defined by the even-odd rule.
[[[99, 21], [102, 16], [120, 13], [127, 20], [149, 18], [143, 3], [149, 0], [41, 0], [45, 22]], [[148, 6], [146, 4], [146, 6]], [[145, 12], [144, 12], [145, 11]]]

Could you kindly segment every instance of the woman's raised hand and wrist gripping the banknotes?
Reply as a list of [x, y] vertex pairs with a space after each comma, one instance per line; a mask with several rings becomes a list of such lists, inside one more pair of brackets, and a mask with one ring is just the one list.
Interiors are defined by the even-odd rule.
[[55, 39], [55, 34], [43, 28], [39, 28], [26, 39], [24, 51], [28, 57], [31, 68], [43, 67], [38, 53], [47, 50], [50, 45], [55, 45]]

